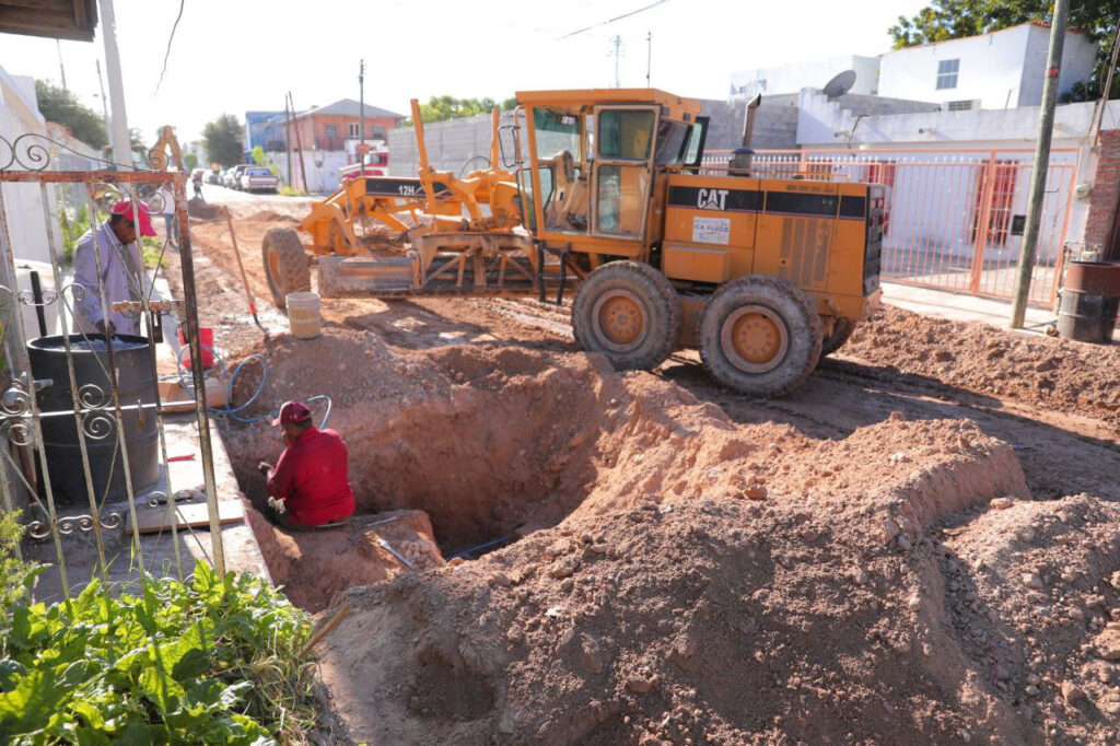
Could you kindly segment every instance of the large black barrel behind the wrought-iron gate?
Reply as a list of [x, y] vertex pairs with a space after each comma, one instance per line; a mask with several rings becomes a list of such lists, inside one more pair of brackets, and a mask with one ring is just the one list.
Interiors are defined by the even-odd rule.
[[[74, 375], [83, 410], [104, 408], [105, 414], [85, 414], [83, 429], [90, 457], [90, 474], [94, 495], [100, 503], [128, 496], [124, 482], [124, 459], [118, 448], [113, 393], [106, 372], [109, 351], [105, 338], [81, 335], [69, 337], [74, 353]], [[143, 337], [116, 335], [113, 337], [113, 362], [116, 365], [118, 386], [123, 409], [121, 420], [124, 442], [129, 454], [132, 489], [139, 496], [159, 481], [159, 429], [156, 421], [156, 381], [149, 360], [149, 342]], [[74, 419], [74, 400], [66, 347], [62, 336], [39, 337], [27, 344], [31, 375], [36, 381], [49, 379], [50, 385], [38, 393], [43, 440], [46, 446], [47, 469], [55, 502], [62, 505], [88, 505], [82, 450], [77, 423]], [[100, 362], [99, 362], [100, 361]], [[137, 402], [147, 404], [137, 409]], [[115, 454], [115, 458], [114, 458]]]

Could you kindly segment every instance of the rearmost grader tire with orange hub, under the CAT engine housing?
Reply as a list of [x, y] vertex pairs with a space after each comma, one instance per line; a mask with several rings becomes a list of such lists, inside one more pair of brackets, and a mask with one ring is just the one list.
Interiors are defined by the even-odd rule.
[[781, 397], [816, 367], [821, 336], [821, 317], [800, 288], [748, 274], [722, 286], [704, 306], [700, 357], [728, 389]]

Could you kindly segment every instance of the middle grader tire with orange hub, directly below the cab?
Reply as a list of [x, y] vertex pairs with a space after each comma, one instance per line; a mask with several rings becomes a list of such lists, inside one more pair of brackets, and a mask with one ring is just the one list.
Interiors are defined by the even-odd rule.
[[576, 342], [616, 370], [651, 370], [681, 333], [681, 304], [665, 276], [648, 264], [608, 262], [584, 280], [571, 305]]

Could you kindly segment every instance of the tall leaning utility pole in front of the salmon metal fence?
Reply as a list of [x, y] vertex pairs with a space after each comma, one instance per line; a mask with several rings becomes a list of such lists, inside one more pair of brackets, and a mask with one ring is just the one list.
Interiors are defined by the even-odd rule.
[[[1046, 171], [1049, 167], [1051, 139], [1054, 137], [1054, 106], [1057, 103], [1058, 74], [1062, 69], [1062, 47], [1065, 43], [1065, 17], [1070, 0], [1055, 0], [1051, 19], [1051, 44], [1046, 56], [1046, 80], [1043, 83], [1043, 106], [1038, 118], [1038, 141], [1035, 146], [1035, 166], [1030, 175], [1030, 195], [1027, 202], [1027, 224], [1023, 230], [1019, 265], [1015, 273], [1015, 296], [1011, 299], [1011, 320], [1008, 326], [1021, 329], [1030, 297], [1030, 279], [1035, 270], [1038, 248], [1038, 225], [1042, 222], [1043, 198], [1046, 192]], [[983, 227], [981, 227], [983, 230]]]

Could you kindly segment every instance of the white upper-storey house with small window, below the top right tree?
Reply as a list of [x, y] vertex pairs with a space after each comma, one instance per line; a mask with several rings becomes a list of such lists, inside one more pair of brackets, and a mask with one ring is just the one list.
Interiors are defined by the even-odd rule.
[[[935, 101], [952, 110], [1036, 106], [1043, 100], [1049, 31], [1044, 24], [1021, 24], [888, 52], [879, 62], [879, 95]], [[1066, 31], [1060, 95], [1092, 75], [1095, 57], [1096, 45], [1084, 32]]]

